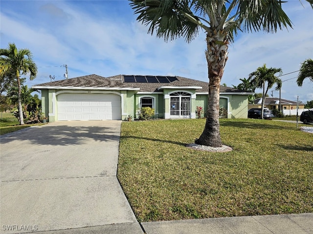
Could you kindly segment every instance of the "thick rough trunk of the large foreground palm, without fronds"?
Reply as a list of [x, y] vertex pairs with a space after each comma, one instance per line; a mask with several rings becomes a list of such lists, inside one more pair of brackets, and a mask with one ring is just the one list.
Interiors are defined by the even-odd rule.
[[[227, 61], [228, 42], [223, 32], [207, 35], [205, 56], [208, 64], [209, 95], [206, 123], [196, 143], [204, 146], [222, 147], [220, 134], [220, 84]], [[216, 43], [218, 42], [218, 43]], [[221, 43], [222, 42], [222, 43]]]

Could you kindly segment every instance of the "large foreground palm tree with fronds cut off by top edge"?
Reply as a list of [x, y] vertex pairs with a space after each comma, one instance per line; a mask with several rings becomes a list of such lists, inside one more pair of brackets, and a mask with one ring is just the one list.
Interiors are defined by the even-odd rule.
[[[204, 130], [197, 144], [221, 147], [220, 83], [228, 45], [240, 31], [276, 32], [291, 27], [281, 0], [130, 0], [137, 21], [149, 26], [148, 33], [165, 42], [183, 37], [191, 42], [206, 33], [209, 95]], [[313, 3], [311, 3], [313, 4]]]

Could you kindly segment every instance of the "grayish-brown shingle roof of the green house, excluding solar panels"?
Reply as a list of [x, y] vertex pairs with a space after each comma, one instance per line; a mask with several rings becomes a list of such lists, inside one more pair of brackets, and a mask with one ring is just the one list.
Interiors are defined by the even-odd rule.
[[[34, 88], [62, 88], [62, 87], [90, 87], [90, 88], [140, 88], [140, 92], [156, 92], [161, 86], [201, 86], [197, 92], [208, 92], [208, 83], [193, 80], [185, 77], [176, 76], [177, 80], [171, 83], [125, 83], [124, 75], [116, 75], [111, 77], [102, 77], [95, 74], [88, 76], [80, 76], [76, 78], [47, 82], [39, 85], [33, 85]], [[221, 85], [220, 92], [244, 92], [239, 89], [226, 87]]]

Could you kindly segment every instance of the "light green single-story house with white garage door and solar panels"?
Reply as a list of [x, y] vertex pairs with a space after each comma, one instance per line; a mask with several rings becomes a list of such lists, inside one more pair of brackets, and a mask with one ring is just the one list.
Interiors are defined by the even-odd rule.
[[[143, 106], [155, 118], [196, 118], [196, 106], [207, 109], [208, 83], [179, 76], [98, 75], [33, 85], [42, 91], [42, 109], [49, 121], [126, 120]], [[228, 118], [246, 118], [248, 95], [220, 88], [220, 106]]]

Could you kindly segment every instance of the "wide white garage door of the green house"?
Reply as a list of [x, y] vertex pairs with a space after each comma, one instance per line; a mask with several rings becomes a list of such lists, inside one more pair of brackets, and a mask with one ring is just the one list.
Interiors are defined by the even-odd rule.
[[120, 120], [116, 94], [62, 93], [57, 96], [58, 120]]

